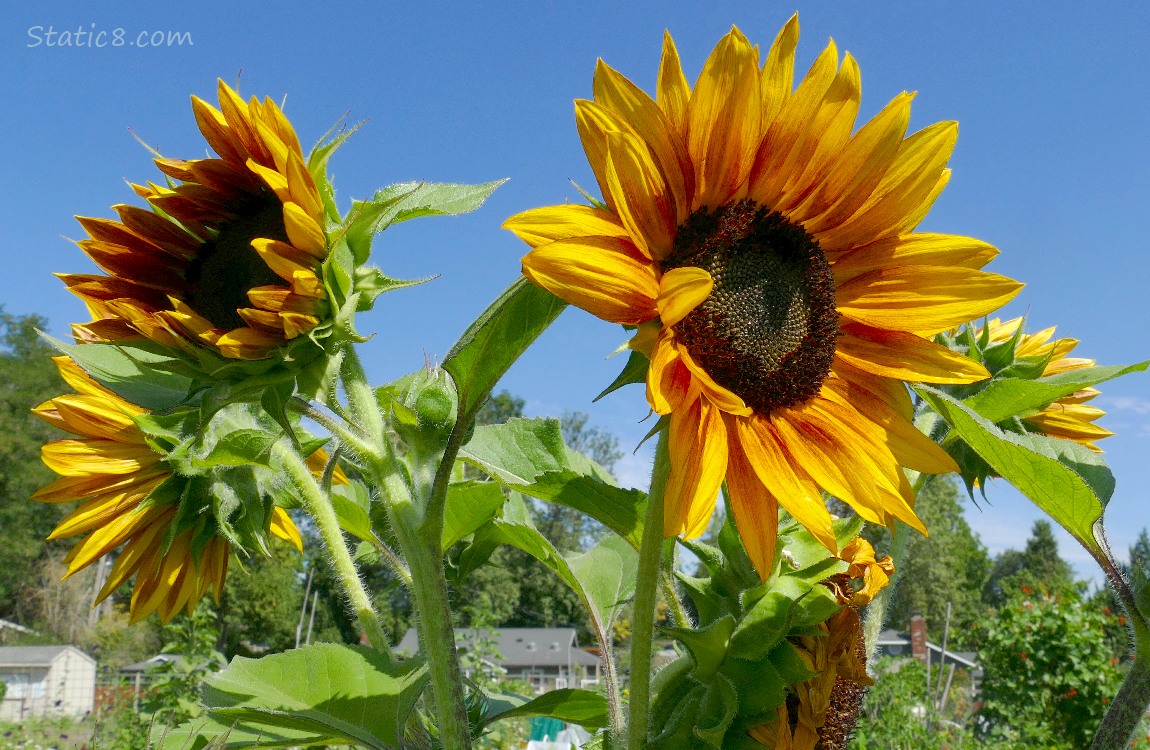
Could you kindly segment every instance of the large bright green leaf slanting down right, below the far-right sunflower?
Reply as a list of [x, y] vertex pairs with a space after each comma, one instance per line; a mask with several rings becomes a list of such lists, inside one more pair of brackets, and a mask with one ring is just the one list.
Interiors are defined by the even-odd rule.
[[1073, 441], [1002, 430], [928, 385], [914, 390], [995, 473], [1013, 484], [1091, 552], [1104, 554], [1094, 525], [1114, 488], [1105, 461]]

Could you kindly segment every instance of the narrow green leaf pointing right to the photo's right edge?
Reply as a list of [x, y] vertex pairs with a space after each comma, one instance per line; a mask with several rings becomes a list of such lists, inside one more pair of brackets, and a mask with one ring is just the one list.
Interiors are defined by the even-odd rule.
[[974, 396], [963, 403], [991, 422], [1000, 422], [1011, 416], [1026, 416], [1037, 412], [1064, 396], [1083, 388], [1127, 375], [1144, 372], [1150, 361], [1122, 367], [1087, 367], [1059, 373], [1038, 380], [1014, 377], [995, 378]]

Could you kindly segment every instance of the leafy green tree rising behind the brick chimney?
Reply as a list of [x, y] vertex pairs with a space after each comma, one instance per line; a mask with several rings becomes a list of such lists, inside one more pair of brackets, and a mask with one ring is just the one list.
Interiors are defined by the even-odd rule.
[[930, 640], [941, 643], [950, 603], [949, 645], [968, 648], [971, 630], [987, 611], [980, 595], [990, 567], [987, 550], [963, 518], [953, 481], [940, 477], [928, 483], [919, 492], [914, 511], [930, 536], [912, 534], [908, 538], [887, 621], [890, 627], [905, 628], [919, 612], [926, 618]]

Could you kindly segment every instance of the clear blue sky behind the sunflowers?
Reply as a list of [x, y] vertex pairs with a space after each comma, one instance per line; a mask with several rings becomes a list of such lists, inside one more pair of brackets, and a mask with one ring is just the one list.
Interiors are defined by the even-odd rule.
[[[1033, 328], [1057, 324], [1099, 363], [1150, 358], [1145, 3], [321, 5], [47, 0], [6, 8], [7, 311], [46, 315], [60, 336], [86, 320], [51, 276], [93, 270], [67, 239], [82, 236], [72, 215], [113, 216], [110, 205], [136, 201], [125, 181], [158, 178], [132, 133], [166, 155], [202, 156], [189, 95], [212, 100], [216, 77], [238, 77], [245, 95], [286, 97], [305, 144], [345, 113], [367, 120], [332, 161], [345, 207], [393, 182], [511, 178], [473, 215], [411, 222], [377, 240], [374, 262], [390, 275], [440, 275], [386, 296], [360, 324], [376, 334], [365, 347], [371, 375], [397, 377], [424, 354], [442, 357], [514, 280], [524, 246], [499, 229], [506, 216], [578, 200], [568, 179], [593, 189], [572, 100], [590, 97], [597, 58], [651, 91], [664, 29], [693, 81], [733, 23], [766, 48], [798, 10], [798, 75], [834, 37], [862, 71], [860, 122], [904, 90], [919, 92], [912, 129], [959, 121], [953, 177], [920, 229], [995, 244], [1002, 255], [989, 270], [1027, 283], [1006, 315], [1029, 314]], [[61, 46], [63, 31], [71, 46]], [[177, 43], [167, 45], [169, 36]], [[568, 311], [503, 385], [531, 414], [590, 412], [630, 447], [647, 429], [642, 389], [590, 403], [621, 366], [604, 359], [621, 340], [618, 327]], [[1106, 520], [1125, 556], [1150, 523], [1150, 377], [1103, 388], [1095, 403], [1118, 433], [1103, 443], [1118, 479]], [[643, 485], [649, 462], [644, 451], [629, 456], [622, 480]], [[972, 526], [991, 552], [1021, 546], [1037, 511], [1002, 482], [988, 495], [989, 506], [967, 513]], [[1061, 549], [1080, 574], [1096, 574], [1065, 537]]]

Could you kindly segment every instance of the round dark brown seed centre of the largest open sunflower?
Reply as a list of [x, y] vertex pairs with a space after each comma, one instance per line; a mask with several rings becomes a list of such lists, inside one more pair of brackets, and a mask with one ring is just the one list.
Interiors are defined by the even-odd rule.
[[750, 200], [699, 209], [678, 228], [665, 270], [695, 266], [711, 296], [675, 327], [695, 360], [756, 412], [819, 392], [838, 335], [835, 282], [802, 227]]

